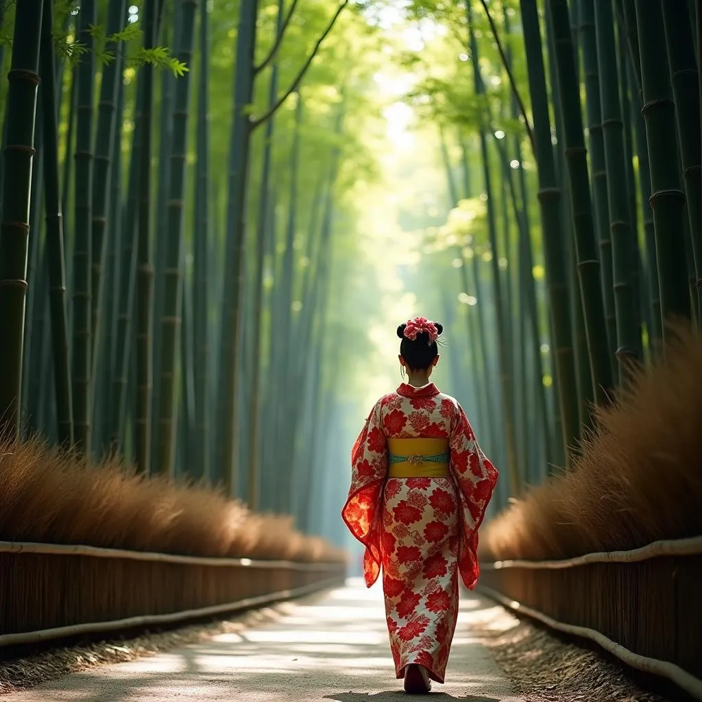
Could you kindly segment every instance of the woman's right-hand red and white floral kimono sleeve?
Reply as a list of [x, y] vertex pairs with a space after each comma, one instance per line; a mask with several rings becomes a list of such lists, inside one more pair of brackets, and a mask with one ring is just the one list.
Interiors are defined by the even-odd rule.
[[458, 402], [451, 420], [449, 446], [451, 474], [458, 486], [461, 516], [458, 570], [466, 588], [473, 590], [480, 575], [477, 532], [497, 484], [498, 472], [478, 446], [468, 417]]

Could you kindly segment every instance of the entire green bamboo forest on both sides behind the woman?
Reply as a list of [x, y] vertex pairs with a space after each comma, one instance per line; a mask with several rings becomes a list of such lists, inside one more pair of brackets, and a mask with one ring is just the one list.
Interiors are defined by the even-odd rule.
[[401, 5], [2, 6], [6, 435], [329, 529], [367, 410], [347, 386], [398, 323], [360, 232], [383, 70], [426, 147], [392, 152], [394, 246], [420, 251], [396, 267], [444, 322], [496, 507], [567, 468], [669, 319], [699, 325], [698, 3]]

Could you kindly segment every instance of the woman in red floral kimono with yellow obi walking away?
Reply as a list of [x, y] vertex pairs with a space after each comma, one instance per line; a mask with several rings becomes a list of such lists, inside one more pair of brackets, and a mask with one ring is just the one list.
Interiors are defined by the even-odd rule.
[[397, 678], [410, 693], [443, 683], [458, 616], [458, 573], [475, 588], [477, 530], [497, 482], [468, 418], [430, 376], [437, 322], [397, 328], [408, 382], [381, 397], [352, 449], [342, 516], [365, 545], [370, 588], [383, 569], [385, 614]]

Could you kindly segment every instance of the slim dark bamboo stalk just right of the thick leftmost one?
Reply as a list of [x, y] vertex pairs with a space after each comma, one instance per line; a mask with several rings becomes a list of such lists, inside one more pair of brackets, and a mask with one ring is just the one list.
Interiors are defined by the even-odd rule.
[[48, 263], [49, 300], [51, 305], [51, 340], [53, 374], [58, 425], [58, 442], [73, 444], [73, 407], [71, 395], [68, 329], [65, 307], [65, 264], [63, 230], [58, 184], [58, 130], [56, 128], [56, 95], [54, 49], [51, 29], [53, 4], [44, 3], [41, 26], [41, 98], [44, 126], [44, 199], [46, 204], [46, 260]]

